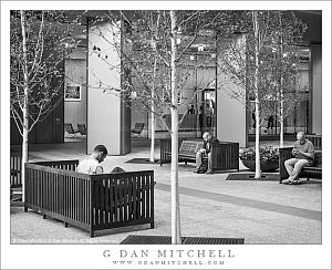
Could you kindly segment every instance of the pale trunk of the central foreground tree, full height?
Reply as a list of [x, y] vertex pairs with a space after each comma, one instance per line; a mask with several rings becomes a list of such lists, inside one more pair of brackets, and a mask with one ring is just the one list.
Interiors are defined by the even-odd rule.
[[172, 23], [172, 55], [170, 55], [170, 91], [172, 91], [172, 243], [181, 243], [180, 237], [180, 214], [178, 195], [178, 111], [177, 111], [177, 87], [176, 87], [176, 12], [170, 11]]

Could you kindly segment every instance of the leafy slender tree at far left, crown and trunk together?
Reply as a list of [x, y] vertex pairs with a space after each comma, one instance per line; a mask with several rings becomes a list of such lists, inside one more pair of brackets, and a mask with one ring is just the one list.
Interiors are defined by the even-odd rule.
[[29, 160], [28, 135], [58, 106], [63, 59], [75, 45], [73, 27], [60, 11], [11, 11], [10, 111], [22, 136], [22, 183]]

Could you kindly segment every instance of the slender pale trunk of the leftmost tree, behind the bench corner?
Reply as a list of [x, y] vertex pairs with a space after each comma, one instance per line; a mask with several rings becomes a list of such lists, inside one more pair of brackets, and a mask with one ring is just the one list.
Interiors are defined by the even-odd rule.
[[27, 52], [27, 33], [25, 33], [25, 13], [23, 10], [21, 12], [21, 27], [22, 27], [22, 51], [23, 51], [23, 75], [24, 75], [24, 97], [23, 97], [23, 139], [22, 139], [22, 195], [24, 200], [24, 184], [25, 184], [25, 169], [24, 164], [29, 162], [28, 153], [28, 135], [29, 135], [29, 115], [28, 115], [28, 94], [29, 94], [29, 84], [28, 84], [28, 52]]

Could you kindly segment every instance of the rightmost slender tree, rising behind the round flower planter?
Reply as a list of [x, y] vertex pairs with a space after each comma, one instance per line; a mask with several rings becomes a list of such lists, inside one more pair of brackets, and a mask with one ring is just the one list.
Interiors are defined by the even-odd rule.
[[[277, 120], [280, 123], [280, 147], [283, 147], [283, 122], [300, 100], [299, 68], [302, 55], [298, 45], [303, 42], [307, 25], [292, 11], [276, 11], [276, 27], [272, 37], [271, 74], [276, 87]], [[271, 105], [272, 103], [270, 103]], [[271, 111], [273, 107], [270, 107]]]

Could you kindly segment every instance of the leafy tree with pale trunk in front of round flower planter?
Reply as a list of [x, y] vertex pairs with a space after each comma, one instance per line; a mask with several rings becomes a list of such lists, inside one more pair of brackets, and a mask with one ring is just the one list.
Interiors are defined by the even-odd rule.
[[[284, 43], [284, 39], [280, 37], [295, 33], [299, 21], [288, 20], [288, 29], [284, 31], [284, 25], [280, 23], [280, 11], [242, 11], [231, 12], [230, 15], [237, 22], [236, 31], [228, 30], [222, 33], [225, 40], [219, 50], [218, 68], [225, 74], [221, 82], [224, 86], [230, 85], [228, 93], [255, 114], [255, 178], [259, 178], [260, 126], [264, 118], [274, 114], [276, 103], [280, 106], [278, 120], [283, 122], [284, 115], [297, 102], [295, 89], [286, 91], [286, 82], [294, 77], [292, 66], [297, 59], [293, 50], [295, 39], [288, 38], [288, 42]], [[288, 55], [291, 56], [280, 56], [283, 55], [280, 48], [286, 46], [290, 53]], [[248, 106], [248, 101], [253, 102], [253, 110]], [[283, 137], [283, 134], [281, 136]]]

